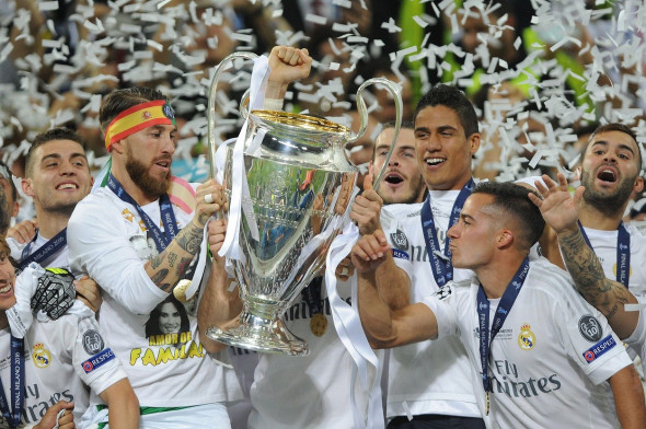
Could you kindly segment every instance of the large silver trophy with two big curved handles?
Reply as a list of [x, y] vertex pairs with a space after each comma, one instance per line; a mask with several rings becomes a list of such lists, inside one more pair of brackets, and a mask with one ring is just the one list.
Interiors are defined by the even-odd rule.
[[[217, 67], [208, 103], [209, 151], [215, 177], [215, 100], [220, 73], [235, 58], [254, 59], [249, 53], [235, 53]], [[244, 141], [239, 245], [241, 260], [232, 260], [243, 301], [234, 327], [209, 327], [210, 338], [256, 351], [307, 355], [308, 344], [285, 326], [282, 314], [301, 290], [324, 268], [327, 248], [347, 219], [357, 169], [348, 162], [345, 147], [366, 130], [368, 114], [361, 96], [371, 84], [384, 85], [396, 107], [395, 136], [382, 171], [374, 179], [378, 187], [401, 124], [402, 100], [399, 88], [382, 78], [366, 81], [357, 91], [361, 115], [359, 132], [354, 136], [330, 120], [275, 111], [241, 113], [247, 119]], [[234, 156], [229, 147], [224, 184], [231, 201]], [[231, 213], [229, 213], [231, 217]], [[229, 222], [227, 234], [232, 234]]]

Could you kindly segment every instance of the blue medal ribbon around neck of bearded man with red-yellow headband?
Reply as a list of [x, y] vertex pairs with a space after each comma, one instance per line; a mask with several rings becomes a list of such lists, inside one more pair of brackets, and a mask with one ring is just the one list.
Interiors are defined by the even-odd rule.
[[171, 199], [169, 198], [168, 194], [164, 194], [159, 199], [159, 209], [161, 212], [162, 224], [164, 225], [164, 232], [162, 232], [158, 225], [154, 224], [152, 219], [143, 210], [141, 207], [128, 195], [126, 189], [122, 186], [122, 184], [116, 179], [116, 177], [111, 173], [109, 178], [107, 179], [107, 187], [109, 190], [116, 194], [123, 201], [128, 202], [139, 213], [143, 223], [146, 223], [146, 228], [150, 232], [152, 232], [152, 239], [154, 240], [154, 244], [159, 253], [162, 253], [164, 248], [173, 241], [175, 235], [177, 235], [177, 221], [175, 220], [175, 213], [173, 212], [173, 206], [171, 205]]

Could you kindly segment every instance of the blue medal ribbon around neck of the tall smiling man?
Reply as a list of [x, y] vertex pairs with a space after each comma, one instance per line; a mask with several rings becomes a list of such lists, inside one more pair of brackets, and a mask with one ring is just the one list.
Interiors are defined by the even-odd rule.
[[[458, 194], [453, 208], [451, 209], [451, 217], [449, 218], [449, 228], [447, 231], [455, 224], [460, 217], [460, 211], [464, 201], [471, 195], [475, 183], [471, 178], [466, 185]], [[430, 209], [430, 195], [424, 201], [422, 206], [422, 212], [419, 213], [422, 219], [422, 231], [424, 232], [424, 240], [426, 241], [426, 252], [428, 253], [428, 260], [430, 263], [430, 269], [435, 277], [435, 282], [440, 288], [448, 281], [453, 279], [453, 263], [451, 262], [451, 250], [449, 248], [449, 240], [445, 239], [443, 252], [440, 251], [439, 241], [437, 237], [437, 231], [435, 229], [435, 219], [432, 218], [432, 210]], [[445, 255], [446, 259], [439, 255]]]

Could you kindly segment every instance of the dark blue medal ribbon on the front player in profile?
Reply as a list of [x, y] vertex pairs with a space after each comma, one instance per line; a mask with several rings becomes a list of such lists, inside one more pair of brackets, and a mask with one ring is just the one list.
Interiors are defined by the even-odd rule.
[[520, 289], [522, 288], [522, 283], [524, 283], [524, 279], [527, 278], [527, 274], [529, 271], [529, 257], [526, 257], [520, 267], [514, 275], [511, 282], [505, 289], [505, 293], [503, 293], [503, 298], [500, 298], [500, 302], [498, 303], [498, 308], [496, 309], [496, 314], [494, 315], [494, 322], [492, 323], [492, 333], [489, 338], [489, 300], [487, 299], [482, 285], [477, 290], [477, 320], [480, 324], [480, 360], [482, 363], [482, 384], [485, 392], [492, 392], [492, 380], [489, 379], [488, 374], [488, 361], [489, 361], [489, 353], [491, 353], [491, 345], [498, 331], [503, 327], [509, 311], [514, 306], [514, 302], [520, 293]]

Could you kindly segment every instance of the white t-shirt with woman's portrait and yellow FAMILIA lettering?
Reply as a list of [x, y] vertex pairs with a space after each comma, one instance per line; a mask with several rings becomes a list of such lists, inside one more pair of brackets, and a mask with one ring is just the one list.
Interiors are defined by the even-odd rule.
[[[158, 201], [142, 209], [163, 229]], [[191, 215], [173, 209], [180, 228], [191, 221]], [[146, 274], [145, 260], [157, 254], [154, 245], [146, 244], [149, 237], [136, 208], [108, 188], [79, 202], [68, 224], [70, 265], [103, 289], [99, 323], [140, 405], [177, 407], [239, 399], [234, 371], [218, 364], [199, 344], [197, 298], [180, 308], [162, 302], [169, 294]], [[193, 281], [200, 281], [199, 276]]]

